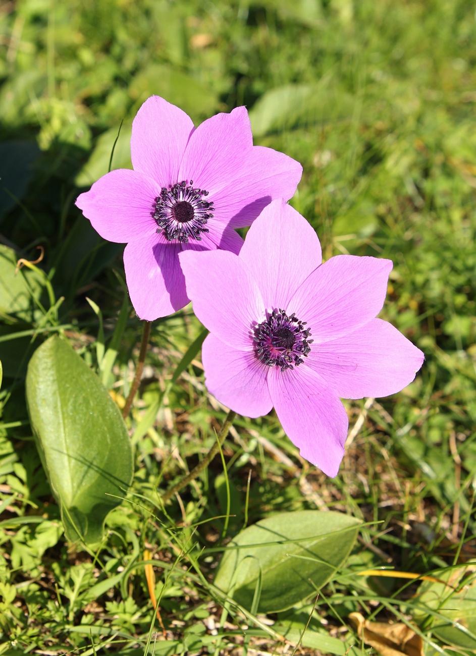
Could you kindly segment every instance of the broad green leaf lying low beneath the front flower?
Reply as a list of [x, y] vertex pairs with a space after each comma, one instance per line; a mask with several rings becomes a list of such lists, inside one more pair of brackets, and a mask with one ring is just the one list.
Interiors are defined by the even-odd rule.
[[345, 562], [360, 522], [339, 512], [282, 512], [228, 544], [215, 585], [247, 609], [261, 576], [259, 613], [286, 610], [315, 594]]

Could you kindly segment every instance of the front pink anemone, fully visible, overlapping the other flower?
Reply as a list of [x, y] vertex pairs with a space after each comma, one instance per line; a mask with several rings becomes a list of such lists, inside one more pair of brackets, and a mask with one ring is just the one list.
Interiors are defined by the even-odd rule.
[[246, 417], [274, 405], [301, 455], [336, 476], [348, 419], [340, 398], [387, 396], [423, 353], [376, 319], [391, 260], [337, 255], [322, 264], [311, 225], [284, 201], [249, 228], [240, 254], [181, 253], [186, 290], [209, 329], [206, 384]]

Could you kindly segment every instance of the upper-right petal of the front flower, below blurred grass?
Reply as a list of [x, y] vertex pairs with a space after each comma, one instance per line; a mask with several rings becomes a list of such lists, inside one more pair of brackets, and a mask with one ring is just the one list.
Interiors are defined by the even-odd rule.
[[392, 267], [391, 260], [336, 255], [305, 279], [288, 310], [307, 321], [316, 348], [315, 344], [352, 333], [376, 317]]

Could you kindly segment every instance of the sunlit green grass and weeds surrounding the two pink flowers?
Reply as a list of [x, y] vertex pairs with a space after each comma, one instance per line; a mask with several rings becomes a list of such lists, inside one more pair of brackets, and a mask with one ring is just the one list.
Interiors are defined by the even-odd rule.
[[[64, 301], [56, 316], [28, 304], [7, 312], [1, 298], [0, 654], [139, 655], [152, 653], [154, 640], [158, 655], [281, 653], [272, 626], [267, 634], [268, 625], [253, 626], [232, 604], [222, 609], [213, 573], [245, 517], [251, 524], [316, 507], [366, 525], [343, 569], [322, 588], [310, 628], [360, 651], [347, 619], [360, 611], [378, 621], [418, 622], [426, 653], [444, 646], [435, 633], [439, 620], [417, 608], [418, 581], [355, 571], [387, 566], [441, 578], [476, 558], [474, 12], [465, 0], [1, 5], [0, 187], [16, 200], [0, 190], [0, 241], [30, 260], [41, 245], [39, 266]], [[346, 402], [351, 430], [356, 422], [360, 430], [337, 478], [300, 459], [272, 412], [236, 419], [224, 460], [215, 458], [163, 508], [160, 494], [213, 445], [226, 413], [204, 388], [200, 356], [163, 396], [202, 327], [190, 308], [154, 322], [131, 434], [154, 404], [157, 413], [141, 424], [133, 487], [92, 552], [62, 535], [32, 441], [24, 377], [51, 330], [96, 367], [99, 324], [86, 296], [102, 310], [106, 340], [112, 337], [124, 299], [121, 247], [97, 237], [74, 199], [91, 171], [106, 173], [123, 119], [125, 146], [119, 138], [113, 168], [127, 165], [127, 125], [152, 93], [196, 123], [246, 104], [255, 142], [303, 164], [292, 204], [313, 224], [324, 257], [393, 260], [381, 316], [422, 348], [425, 363], [400, 394], [366, 407], [365, 400]], [[97, 144], [102, 151], [87, 165]], [[37, 275], [32, 287], [43, 284]], [[41, 301], [49, 308], [47, 295]], [[18, 331], [30, 335], [12, 340]], [[140, 335], [129, 306], [106, 381], [119, 405]], [[151, 628], [144, 550], [156, 563], [169, 642], [158, 621]], [[106, 589], [108, 577], [117, 583]], [[471, 578], [465, 584], [474, 590]], [[267, 621], [287, 619], [303, 630], [313, 602]], [[474, 627], [464, 611], [458, 617]]]

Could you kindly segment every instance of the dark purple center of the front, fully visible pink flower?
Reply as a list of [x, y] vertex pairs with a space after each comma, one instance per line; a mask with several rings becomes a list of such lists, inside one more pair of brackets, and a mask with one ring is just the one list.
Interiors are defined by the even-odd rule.
[[299, 321], [294, 313], [289, 317], [284, 310], [273, 310], [268, 318], [254, 329], [255, 352], [265, 365], [294, 369], [304, 362], [314, 340], [305, 329], [306, 321]]

